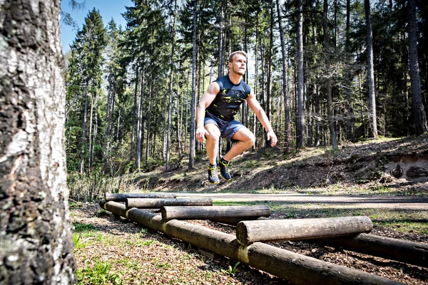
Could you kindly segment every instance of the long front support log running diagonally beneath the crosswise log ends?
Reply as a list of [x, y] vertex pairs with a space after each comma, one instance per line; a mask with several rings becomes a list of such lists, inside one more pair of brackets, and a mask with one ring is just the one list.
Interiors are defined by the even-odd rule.
[[159, 215], [136, 208], [126, 210], [124, 204], [117, 202], [105, 202], [101, 203], [101, 206], [110, 212], [115, 211], [114, 214], [125, 214], [122, 217], [127, 217], [143, 227], [163, 232], [181, 239], [183, 242], [189, 242], [216, 254], [241, 261], [292, 284], [403, 284], [357, 269], [295, 254], [261, 242], [255, 242], [245, 247], [236, 240], [233, 234], [218, 232], [177, 219], [163, 222]]

